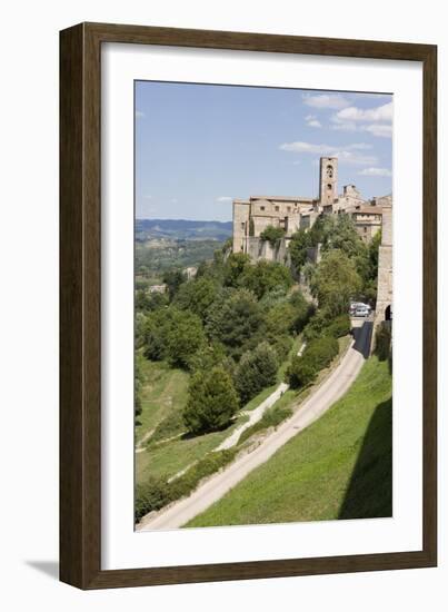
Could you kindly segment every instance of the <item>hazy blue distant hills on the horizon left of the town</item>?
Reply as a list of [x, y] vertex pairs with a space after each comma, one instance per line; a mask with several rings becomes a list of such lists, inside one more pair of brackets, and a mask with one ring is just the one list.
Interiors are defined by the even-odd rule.
[[171, 240], [223, 241], [232, 234], [231, 221], [191, 221], [186, 219], [136, 219], [136, 240], [153, 238]]

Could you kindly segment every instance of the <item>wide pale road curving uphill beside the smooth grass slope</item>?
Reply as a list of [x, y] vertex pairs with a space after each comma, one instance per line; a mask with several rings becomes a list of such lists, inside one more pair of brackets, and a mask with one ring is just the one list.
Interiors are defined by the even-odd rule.
[[352, 324], [355, 339], [340, 364], [291, 418], [280, 425], [252, 452], [242, 455], [211, 476], [189, 497], [179, 500], [156, 514], [148, 514], [137, 525], [137, 531], [181, 527], [220, 500], [252, 470], [268, 461], [291, 437], [326, 413], [348, 391], [369, 356], [371, 320], [355, 319]]

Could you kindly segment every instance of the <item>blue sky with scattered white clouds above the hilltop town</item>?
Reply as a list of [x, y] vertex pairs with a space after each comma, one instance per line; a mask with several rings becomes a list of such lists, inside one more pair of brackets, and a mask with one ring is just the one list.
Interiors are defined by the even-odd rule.
[[339, 157], [339, 191], [389, 194], [391, 99], [138, 81], [137, 217], [225, 221], [232, 198], [316, 197], [322, 155]]

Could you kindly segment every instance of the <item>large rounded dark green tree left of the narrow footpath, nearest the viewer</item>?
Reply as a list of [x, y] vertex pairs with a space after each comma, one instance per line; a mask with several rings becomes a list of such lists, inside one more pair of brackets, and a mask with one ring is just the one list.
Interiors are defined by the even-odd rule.
[[230, 375], [222, 367], [196, 373], [190, 382], [182, 416], [192, 434], [226, 427], [239, 407]]

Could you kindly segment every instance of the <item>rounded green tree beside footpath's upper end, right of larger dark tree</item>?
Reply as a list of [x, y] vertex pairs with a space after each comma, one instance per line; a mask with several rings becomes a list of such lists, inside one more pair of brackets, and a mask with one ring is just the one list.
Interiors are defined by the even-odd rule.
[[241, 402], [246, 404], [261, 389], [273, 385], [277, 369], [277, 354], [267, 342], [245, 353], [235, 373], [235, 386]]

